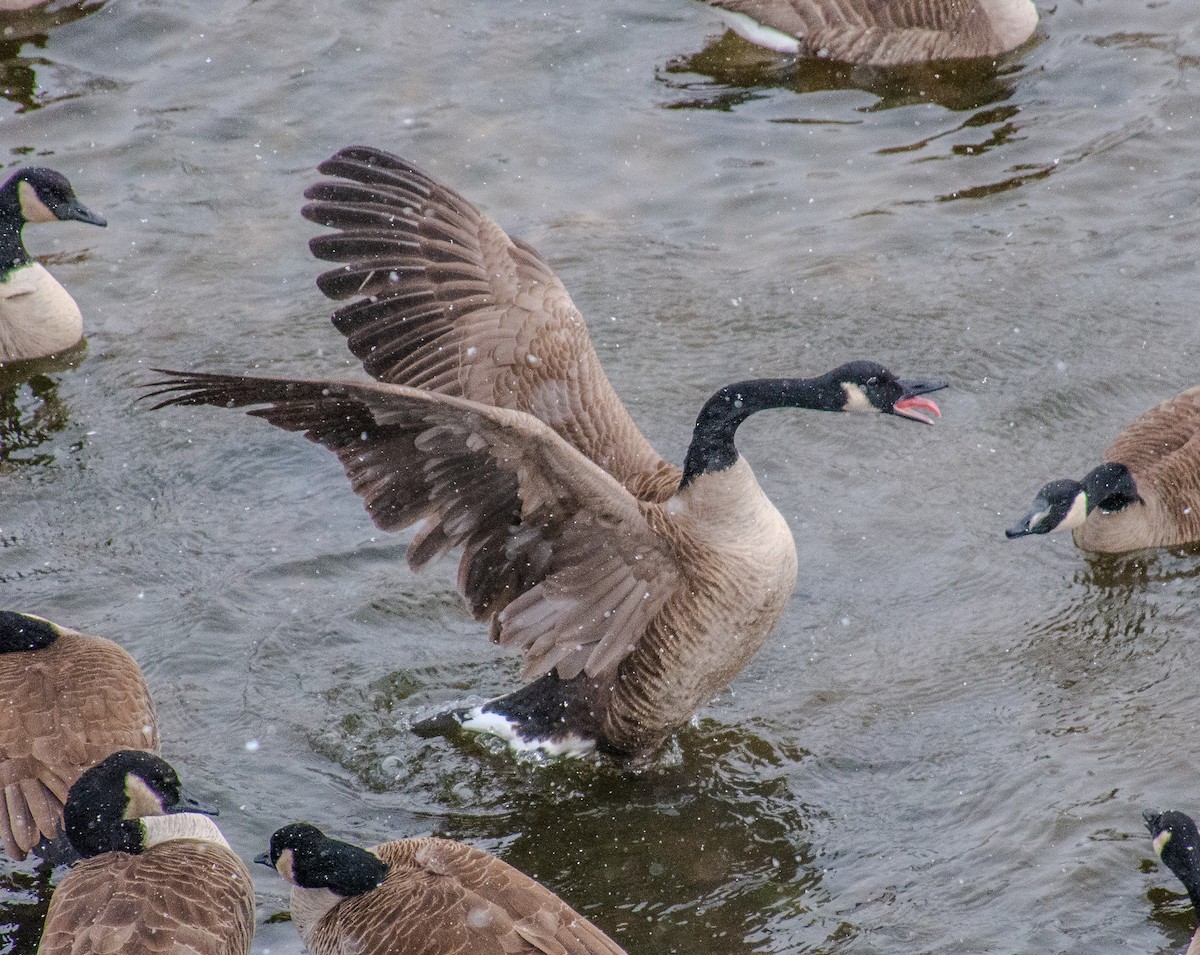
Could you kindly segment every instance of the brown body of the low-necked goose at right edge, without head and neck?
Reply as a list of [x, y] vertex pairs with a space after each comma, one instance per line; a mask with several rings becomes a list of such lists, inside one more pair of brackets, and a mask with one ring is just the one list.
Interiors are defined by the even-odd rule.
[[1093, 510], [1074, 530], [1079, 547], [1118, 552], [1200, 541], [1200, 386], [1126, 426], [1104, 460], [1129, 468], [1145, 506]]

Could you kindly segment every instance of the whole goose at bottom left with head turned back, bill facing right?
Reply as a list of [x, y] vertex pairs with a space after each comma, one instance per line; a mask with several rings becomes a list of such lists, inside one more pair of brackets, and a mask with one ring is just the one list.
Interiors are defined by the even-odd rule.
[[152, 753], [116, 752], [79, 777], [66, 819], [84, 860], [50, 896], [38, 955], [250, 951], [250, 871], [212, 819], [180, 806], [179, 776]]

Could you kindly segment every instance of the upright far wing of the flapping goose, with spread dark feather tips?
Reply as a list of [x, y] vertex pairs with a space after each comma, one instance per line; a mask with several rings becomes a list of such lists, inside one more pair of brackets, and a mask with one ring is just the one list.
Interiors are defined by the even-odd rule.
[[317, 286], [361, 296], [334, 324], [368, 374], [528, 412], [635, 495], [670, 497], [679, 469], [625, 412], [583, 317], [533, 248], [389, 152], [349, 146], [320, 172], [341, 179], [310, 187], [302, 215], [341, 232], [310, 246], [347, 264]]

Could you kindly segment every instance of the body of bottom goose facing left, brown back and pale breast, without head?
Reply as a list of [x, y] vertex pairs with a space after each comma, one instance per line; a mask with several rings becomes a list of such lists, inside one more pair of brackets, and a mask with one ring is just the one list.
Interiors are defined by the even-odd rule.
[[624, 955], [545, 885], [481, 849], [409, 839], [371, 849], [389, 865], [377, 889], [314, 924], [295, 915], [313, 955]]

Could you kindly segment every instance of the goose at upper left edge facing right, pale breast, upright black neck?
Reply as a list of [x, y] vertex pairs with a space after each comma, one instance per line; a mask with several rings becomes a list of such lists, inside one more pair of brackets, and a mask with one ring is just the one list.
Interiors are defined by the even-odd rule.
[[22, 240], [26, 222], [68, 218], [108, 224], [53, 169], [18, 169], [0, 186], [0, 364], [53, 355], [83, 337], [79, 306]]

